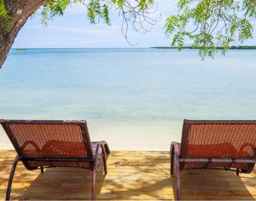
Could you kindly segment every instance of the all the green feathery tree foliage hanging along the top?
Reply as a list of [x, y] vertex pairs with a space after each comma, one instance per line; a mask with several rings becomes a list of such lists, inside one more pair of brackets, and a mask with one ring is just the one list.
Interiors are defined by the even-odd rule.
[[[55, 15], [63, 15], [67, 6], [75, 3], [85, 6], [92, 24], [102, 19], [110, 25], [109, 10], [118, 10], [123, 17], [122, 33], [126, 40], [129, 28], [145, 33], [150, 30], [148, 26], [157, 22], [152, 18], [154, 0], [53, 0], [39, 11], [42, 24], [47, 25]], [[218, 46], [223, 47], [221, 51], [225, 54], [232, 44], [252, 38], [256, 0], [177, 0], [177, 8], [176, 15], [166, 18], [165, 34], [172, 37], [172, 46], [179, 49], [185, 40], [191, 41], [192, 47], [200, 49], [202, 59], [213, 58]], [[10, 29], [11, 20], [4, 0], [0, 0], [0, 26]]]

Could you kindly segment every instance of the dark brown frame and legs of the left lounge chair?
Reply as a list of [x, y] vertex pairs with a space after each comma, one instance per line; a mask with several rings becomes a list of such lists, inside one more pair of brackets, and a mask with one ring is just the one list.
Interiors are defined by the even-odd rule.
[[[12, 165], [12, 170], [10, 172], [10, 177], [8, 180], [8, 186], [6, 190], [6, 200], [10, 200], [10, 193], [12, 188], [12, 181], [13, 176], [15, 173], [15, 169], [17, 167], [17, 163], [19, 161], [67, 161], [67, 162], [89, 162], [90, 163], [90, 170], [92, 170], [92, 200], [95, 200], [96, 198], [96, 176], [97, 176], [97, 170], [99, 169], [100, 165], [99, 162], [101, 161], [101, 158], [103, 159], [104, 163], [104, 174], [108, 174], [107, 169], [107, 156], [110, 153], [108, 143], [105, 141], [100, 142], [93, 142], [95, 143], [95, 153], [93, 153], [92, 150], [92, 142], [90, 141], [90, 135], [88, 133], [88, 128], [86, 121], [27, 121], [27, 120], [4, 120], [1, 119], [0, 123], [2, 124], [4, 131], [10, 138], [13, 146], [15, 147], [15, 150], [17, 151], [17, 156], [15, 157]], [[15, 142], [15, 138], [13, 138], [12, 131], [9, 128], [9, 124], [77, 124], [81, 127], [84, 141], [84, 147], [86, 148], [86, 151], [88, 153], [88, 158], [26, 158], [22, 157], [22, 153], [20, 151], [20, 147]], [[101, 151], [100, 151], [101, 149]], [[101, 154], [99, 154], [101, 153]], [[100, 160], [100, 161], [99, 161]], [[48, 167], [40, 167], [38, 169], [41, 170], [42, 173], [44, 173], [44, 168], [49, 167], [56, 167], [56, 166], [48, 166]], [[26, 167], [27, 168], [27, 167]]]

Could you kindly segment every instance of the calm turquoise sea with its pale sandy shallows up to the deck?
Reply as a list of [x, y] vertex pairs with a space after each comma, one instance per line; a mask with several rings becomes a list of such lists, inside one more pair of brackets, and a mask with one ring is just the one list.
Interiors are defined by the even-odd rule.
[[11, 50], [0, 118], [86, 119], [92, 139], [113, 149], [168, 150], [185, 118], [256, 119], [255, 63], [255, 50], [206, 61], [197, 50]]

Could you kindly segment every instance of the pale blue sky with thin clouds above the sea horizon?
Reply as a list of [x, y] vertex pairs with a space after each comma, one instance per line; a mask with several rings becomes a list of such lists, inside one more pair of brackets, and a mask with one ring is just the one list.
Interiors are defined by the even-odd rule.
[[[166, 17], [177, 13], [177, 0], [158, 0], [157, 13], [153, 17], [162, 16], [151, 31], [140, 34], [129, 31], [129, 41], [136, 46], [131, 46], [122, 35], [122, 17], [118, 11], [111, 11], [111, 26], [100, 22], [90, 24], [86, 8], [81, 4], [69, 6], [63, 16], [56, 16], [49, 21], [49, 26], [41, 24], [40, 16], [29, 18], [20, 30], [12, 48], [99, 48], [99, 47], [156, 47], [170, 46], [171, 38], [164, 35], [164, 20]], [[255, 44], [255, 39], [245, 45]], [[186, 41], [185, 41], [186, 43]], [[185, 44], [186, 45], [186, 44]]]

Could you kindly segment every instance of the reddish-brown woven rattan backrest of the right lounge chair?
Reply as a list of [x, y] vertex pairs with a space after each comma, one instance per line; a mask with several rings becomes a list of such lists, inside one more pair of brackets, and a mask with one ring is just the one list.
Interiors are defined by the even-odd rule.
[[180, 158], [256, 158], [256, 121], [184, 120]]

